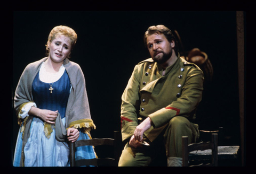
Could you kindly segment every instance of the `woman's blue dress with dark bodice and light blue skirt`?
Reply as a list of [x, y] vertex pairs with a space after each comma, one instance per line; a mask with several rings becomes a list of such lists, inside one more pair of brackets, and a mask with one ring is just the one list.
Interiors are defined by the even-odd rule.
[[[50, 92], [50, 84], [53, 88]], [[65, 113], [68, 102], [71, 84], [65, 70], [61, 78], [54, 83], [44, 83], [36, 75], [32, 93], [34, 102], [40, 109], [47, 109], [58, 112], [61, 115], [62, 123], [65, 125]], [[66, 126], [65, 126], [66, 127]], [[14, 166], [20, 166], [22, 133], [19, 132], [17, 145], [14, 154]], [[90, 137], [80, 131], [78, 140], [89, 139]], [[47, 138], [44, 133], [44, 121], [34, 117], [30, 126], [30, 136], [24, 147], [25, 167], [66, 167], [69, 166], [69, 146], [67, 142], [59, 142], [55, 138], [55, 128], [51, 136]], [[95, 153], [92, 146], [76, 148], [76, 159], [92, 159]]]

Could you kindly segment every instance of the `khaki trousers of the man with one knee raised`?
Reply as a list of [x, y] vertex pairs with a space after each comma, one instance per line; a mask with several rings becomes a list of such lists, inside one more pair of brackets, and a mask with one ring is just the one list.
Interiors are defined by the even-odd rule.
[[156, 140], [148, 141], [149, 146], [143, 145], [135, 149], [127, 143], [118, 166], [149, 166], [163, 150], [167, 158], [182, 158], [182, 136], [188, 136], [188, 143], [195, 143], [199, 137], [198, 125], [190, 123], [186, 117], [173, 117]]

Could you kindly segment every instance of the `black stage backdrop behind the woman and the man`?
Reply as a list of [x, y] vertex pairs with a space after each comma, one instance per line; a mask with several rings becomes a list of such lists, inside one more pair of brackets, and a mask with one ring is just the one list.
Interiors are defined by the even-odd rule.
[[[180, 34], [185, 50], [199, 48], [213, 66], [198, 108], [199, 129], [224, 129], [225, 145], [240, 145], [238, 66], [235, 11], [15, 11], [13, 13], [13, 89], [27, 64], [45, 57], [45, 44], [57, 25], [78, 36], [70, 60], [84, 73], [92, 137], [113, 137], [120, 131], [121, 95], [134, 66], [149, 58], [143, 34], [164, 24]], [[19, 125], [13, 110], [13, 150]]]

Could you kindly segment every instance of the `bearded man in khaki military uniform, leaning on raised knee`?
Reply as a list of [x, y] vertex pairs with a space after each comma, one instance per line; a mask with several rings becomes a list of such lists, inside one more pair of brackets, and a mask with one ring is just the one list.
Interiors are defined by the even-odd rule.
[[[180, 58], [164, 25], [144, 36], [151, 58], [135, 66], [122, 95], [124, 147], [119, 166], [148, 166], [164, 144], [168, 166], [182, 166], [182, 136], [199, 137], [195, 110], [202, 99], [203, 72]], [[142, 121], [140, 124], [140, 120]]]

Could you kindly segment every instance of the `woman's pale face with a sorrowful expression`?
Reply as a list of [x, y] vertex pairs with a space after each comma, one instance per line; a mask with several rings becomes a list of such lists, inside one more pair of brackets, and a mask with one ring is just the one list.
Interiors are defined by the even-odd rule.
[[54, 63], [62, 63], [71, 53], [71, 41], [68, 37], [59, 35], [49, 46], [49, 57]]

